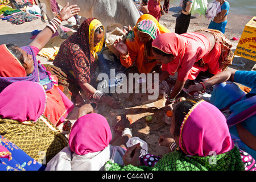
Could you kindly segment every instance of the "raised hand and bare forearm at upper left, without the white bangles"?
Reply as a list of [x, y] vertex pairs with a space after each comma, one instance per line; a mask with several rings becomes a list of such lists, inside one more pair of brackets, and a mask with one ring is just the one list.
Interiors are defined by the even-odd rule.
[[[77, 7], [77, 5], [71, 5], [69, 6], [69, 3], [59, 13], [60, 21], [67, 20], [71, 18], [72, 16], [79, 13], [80, 8]], [[30, 43], [30, 46], [37, 47], [39, 51], [46, 46], [49, 39], [51, 39], [53, 35], [52, 30], [49, 27], [44, 28], [37, 36], [36, 38]]]

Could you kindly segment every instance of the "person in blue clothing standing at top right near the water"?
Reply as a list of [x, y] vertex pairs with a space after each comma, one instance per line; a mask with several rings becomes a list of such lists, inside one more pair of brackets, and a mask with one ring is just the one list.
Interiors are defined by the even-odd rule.
[[210, 21], [210, 24], [208, 28], [215, 29], [218, 31], [221, 31], [223, 34], [225, 34], [225, 28], [226, 23], [228, 23], [228, 13], [229, 13], [229, 2], [225, 0], [216, 0], [217, 2], [220, 2], [221, 5], [221, 12], [218, 13], [212, 21]]

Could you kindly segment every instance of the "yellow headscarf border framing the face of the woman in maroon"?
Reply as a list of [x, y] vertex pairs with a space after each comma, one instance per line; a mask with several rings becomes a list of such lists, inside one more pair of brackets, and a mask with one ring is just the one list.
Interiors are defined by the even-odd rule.
[[94, 59], [96, 59], [96, 60], [98, 59], [98, 56], [97, 56], [96, 53], [101, 51], [103, 43], [104, 43], [104, 39], [105, 39], [105, 28], [104, 28], [104, 26], [102, 26], [103, 30], [104, 30], [103, 31], [104, 36], [103, 36], [101, 42], [98, 44], [98, 46], [95, 46], [95, 47], [93, 46], [94, 45], [94, 42], [93, 42], [93, 40], [94, 40], [94, 32], [100, 26], [102, 26], [102, 24], [97, 19], [93, 19], [92, 22], [90, 22], [90, 25], [89, 25], [90, 51], [92, 52], [92, 55], [93, 55]]

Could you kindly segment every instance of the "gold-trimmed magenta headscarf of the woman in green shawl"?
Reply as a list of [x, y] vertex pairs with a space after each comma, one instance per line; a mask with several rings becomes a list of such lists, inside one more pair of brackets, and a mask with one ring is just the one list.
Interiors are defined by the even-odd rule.
[[234, 143], [221, 111], [206, 101], [199, 101], [181, 124], [179, 146], [187, 155], [208, 156], [210, 152], [216, 155], [228, 152]]

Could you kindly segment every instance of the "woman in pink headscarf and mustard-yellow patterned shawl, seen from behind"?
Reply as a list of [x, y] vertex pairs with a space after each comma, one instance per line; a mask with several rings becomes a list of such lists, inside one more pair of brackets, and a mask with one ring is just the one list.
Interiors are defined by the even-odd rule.
[[67, 138], [44, 116], [48, 97], [38, 82], [16, 81], [3, 89], [0, 101], [0, 135], [31, 158], [46, 164], [68, 146]]

